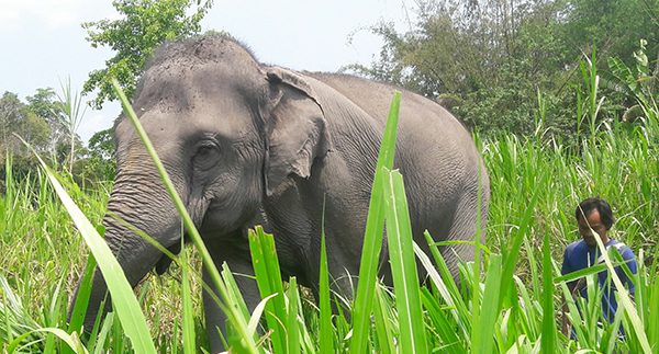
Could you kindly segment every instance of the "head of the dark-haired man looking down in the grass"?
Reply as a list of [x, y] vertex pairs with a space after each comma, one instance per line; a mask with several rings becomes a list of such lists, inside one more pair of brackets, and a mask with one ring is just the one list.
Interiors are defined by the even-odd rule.
[[611, 205], [601, 198], [588, 198], [579, 204], [574, 212], [579, 224], [579, 233], [590, 247], [597, 244], [591, 229], [596, 232], [603, 243], [608, 242], [606, 232], [613, 226]]

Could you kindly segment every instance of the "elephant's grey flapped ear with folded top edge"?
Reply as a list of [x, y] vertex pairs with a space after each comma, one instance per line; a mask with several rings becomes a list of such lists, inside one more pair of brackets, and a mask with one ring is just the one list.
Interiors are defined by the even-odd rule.
[[266, 116], [265, 186], [268, 196], [308, 179], [316, 159], [331, 150], [323, 107], [313, 88], [292, 71], [268, 68], [270, 102]]

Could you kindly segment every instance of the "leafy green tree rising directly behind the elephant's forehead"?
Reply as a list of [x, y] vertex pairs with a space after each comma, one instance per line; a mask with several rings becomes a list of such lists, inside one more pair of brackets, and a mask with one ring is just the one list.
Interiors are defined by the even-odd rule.
[[[82, 93], [98, 89], [92, 105], [100, 109], [105, 101], [116, 100], [110, 83], [114, 77], [130, 96], [135, 91], [139, 72], [154, 49], [167, 41], [191, 36], [201, 31], [200, 21], [212, 0], [115, 0], [120, 20], [87, 22], [87, 41], [91, 46], [108, 46], [116, 55], [105, 61], [105, 68], [93, 70]], [[187, 12], [194, 9], [191, 15]]]

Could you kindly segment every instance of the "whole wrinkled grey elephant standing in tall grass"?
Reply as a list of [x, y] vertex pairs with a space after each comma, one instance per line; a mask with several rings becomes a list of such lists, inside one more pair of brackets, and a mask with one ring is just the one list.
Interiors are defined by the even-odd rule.
[[[133, 106], [217, 267], [253, 273], [247, 229], [275, 233], [284, 277], [317, 290], [320, 235], [325, 233], [333, 287], [348, 296], [360, 250], [375, 163], [394, 88], [344, 75], [295, 72], [259, 64], [241, 44], [201, 37], [165, 46], [147, 66]], [[479, 165], [481, 225], [489, 180], [470, 135], [436, 103], [403, 92], [395, 167], [404, 176], [416, 242], [472, 240]], [[164, 247], [180, 243], [180, 218], [130, 122], [116, 126], [118, 176], [108, 209]], [[169, 262], [107, 217], [107, 241], [135, 286]], [[383, 247], [384, 258], [387, 248]], [[469, 245], [444, 249], [457, 274]], [[382, 275], [390, 282], [388, 264]], [[204, 272], [204, 279], [210, 284]], [[248, 307], [256, 284], [237, 277]], [[90, 328], [105, 285], [97, 272]], [[204, 294], [213, 351], [225, 316]]]

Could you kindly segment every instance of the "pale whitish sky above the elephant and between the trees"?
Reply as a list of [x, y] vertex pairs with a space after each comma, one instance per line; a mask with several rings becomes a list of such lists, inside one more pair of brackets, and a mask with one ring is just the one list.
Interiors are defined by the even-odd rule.
[[[201, 24], [202, 31], [227, 31], [261, 62], [336, 71], [376, 58], [382, 41], [369, 26], [386, 21], [409, 31], [414, 15], [413, 0], [215, 0]], [[0, 94], [10, 91], [24, 100], [38, 88], [62, 94], [69, 79], [71, 89], [81, 91], [89, 72], [113, 56], [108, 48], [92, 48], [80, 26], [102, 19], [120, 19], [110, 0], [0, 0]], [[87, 141], [119, 114], [116, 102], [100, 111], [88, 107], [77, 133]]]

